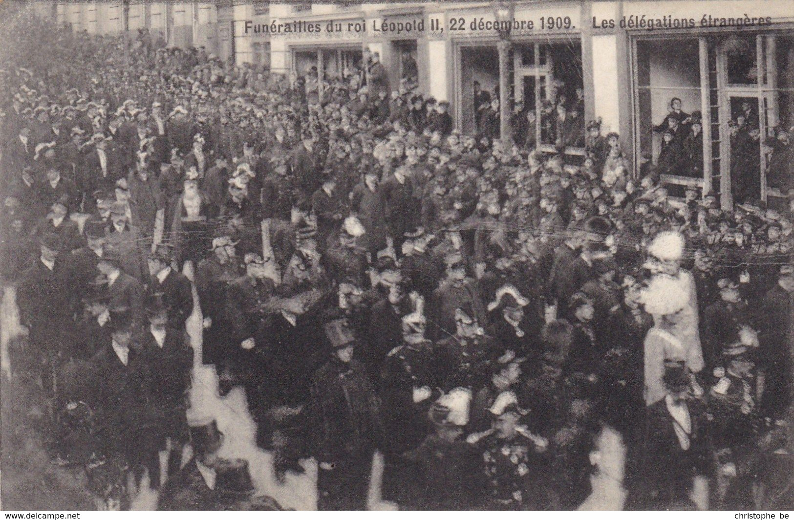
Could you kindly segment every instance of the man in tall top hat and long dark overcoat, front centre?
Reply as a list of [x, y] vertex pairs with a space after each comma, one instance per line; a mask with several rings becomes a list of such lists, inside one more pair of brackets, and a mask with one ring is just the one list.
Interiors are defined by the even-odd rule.
[[320, 464], [318, 509], [363, 510], [372, 454], [383, 429], [378, 397], [345, 320], [326, 324], [331, 359], [314, 373], [306, 409], [311, 453]]

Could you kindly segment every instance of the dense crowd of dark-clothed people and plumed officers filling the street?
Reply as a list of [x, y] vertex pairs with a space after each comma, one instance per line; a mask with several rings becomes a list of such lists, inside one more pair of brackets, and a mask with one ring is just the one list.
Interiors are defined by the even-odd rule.
[[626, 507], [781, 499], [792, 202], [672, 197], [599, 121], [584, 157], [499, 141], [496, 109], [462, 135], [374, 57], [318, 81], [27, 15], [0, 40], [11, 370], [106, 507], [144, 471], [161, 509], [278, 507], [187, 420], [197, 312], [321, 508], [366, 506], [376, 451], [401, 508], [576, 508], [604, 429]]

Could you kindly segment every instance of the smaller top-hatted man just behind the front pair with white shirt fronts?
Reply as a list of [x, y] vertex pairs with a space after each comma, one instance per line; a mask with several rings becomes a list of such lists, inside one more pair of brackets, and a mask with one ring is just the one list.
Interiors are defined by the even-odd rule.
[[150, 277], [147, 294], [163, 293], [163, 302], [168, 309], [168, 326], [183, 331], [187, 318], [193, 314], [193, 291], [187, 276], [171, 267], [173, 260], [174, 249], [168, 244], [158, 244], [148, 255]]

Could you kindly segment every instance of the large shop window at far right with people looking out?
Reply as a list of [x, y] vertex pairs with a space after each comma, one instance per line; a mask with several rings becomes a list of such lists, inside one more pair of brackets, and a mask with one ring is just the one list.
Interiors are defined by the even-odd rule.
[[637, 40], [641, 174], [701, 186], [726, 207], [780, 203], [794, 187], [792, 161], [784, 159], [794, 115], [792, 43], [783, 34], [735, 32]]

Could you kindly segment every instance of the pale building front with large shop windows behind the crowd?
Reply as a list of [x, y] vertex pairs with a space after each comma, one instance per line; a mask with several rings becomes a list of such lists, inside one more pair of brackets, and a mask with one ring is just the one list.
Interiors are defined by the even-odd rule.
[[[509, 34], [495, 26], [506, 7]], [[112, 33], [124, 29], [124, 10], [124, 2], [64, 2], [54, 16], [75, 30]], [[761, 134], [758, 198], [785, 195], [765, 186], [762, 143], [794, 124], [789, 0], [129, 2], [129, 30], [139, 28], [285, 75], [316, 67], [322, 79], [342, 77], [377, 54], [392, 90], [414, 78], [420, 91], [451, 103], [464, 132], [476, 129], [475, 82], [491, 95], [507, 91], [537, 121], [565, 102], [577, 124], [600, 117], [602, 133], [619, 133], [635, 171], [643, 156], [657, 160], [659, 123], [679, 98], [681, 110], [700, 113], [703, 168], [665, 181], [727, 205], [742, 202], [731, 189], [731, 128], [745, 112]], [[541, 127], [537, 142], [551, 149]], [[581, 154], [580, 144], [567, 152]]]

